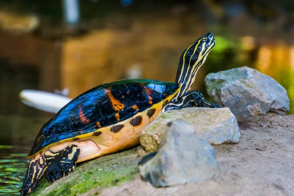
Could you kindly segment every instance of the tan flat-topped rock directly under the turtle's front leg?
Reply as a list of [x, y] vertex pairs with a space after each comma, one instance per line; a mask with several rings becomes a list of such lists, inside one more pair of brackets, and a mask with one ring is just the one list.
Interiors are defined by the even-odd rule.
[[238, 143], [240, 132], [229, 108], [183, 108], [163, 113], [140, 135], [140, 143], [148, 152], [156, 151], [168, 122], [185, 120], [194, 126], [194, 134], [212, 145]]

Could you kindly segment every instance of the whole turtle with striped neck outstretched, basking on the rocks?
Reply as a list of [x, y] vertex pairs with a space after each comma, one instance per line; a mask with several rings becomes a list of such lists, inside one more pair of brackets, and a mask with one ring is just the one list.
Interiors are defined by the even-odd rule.
[[147, 124], [161, 113], [185, 107], [219, 108], [191, 91], [196, 73], [215, 46], [207, 33], [185, 49], [175, 82], [124, 79], [94, 87], [74, 98], [45, 123], [27, 157], [21, 196], [46, 176], [49, 182], [73, 172], [76, 163], [139, 145]]

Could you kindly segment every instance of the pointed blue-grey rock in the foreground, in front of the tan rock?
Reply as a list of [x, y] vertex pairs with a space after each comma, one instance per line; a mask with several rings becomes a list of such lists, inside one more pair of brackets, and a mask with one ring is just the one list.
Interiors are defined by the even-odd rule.
[[218, 164], [209, 142], [194, 134], [193, 125], [178, 120], [168, 123], [157, 154], [143, 158], [139, 170], [153, 186], [167, 187], [210, 179]]

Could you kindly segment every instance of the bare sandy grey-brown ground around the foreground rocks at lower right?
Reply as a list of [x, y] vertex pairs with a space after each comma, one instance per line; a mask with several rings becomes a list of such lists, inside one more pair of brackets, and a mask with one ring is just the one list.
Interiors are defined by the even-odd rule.
[[239, 120], [237, 145], [216, 146], [220, 174], [212, 180], [153, 188], [140, 175], [83, 196], [294, 196], [294, 115]]

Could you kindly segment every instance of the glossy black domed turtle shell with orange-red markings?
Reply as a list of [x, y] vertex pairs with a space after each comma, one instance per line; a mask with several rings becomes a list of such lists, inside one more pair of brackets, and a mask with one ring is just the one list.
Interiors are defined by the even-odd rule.
[[90, 89], [43, 125], [28, 156], [54, 143], [127, 120], [178, 89], [177, 83], [151, 79], [126, 79]]

